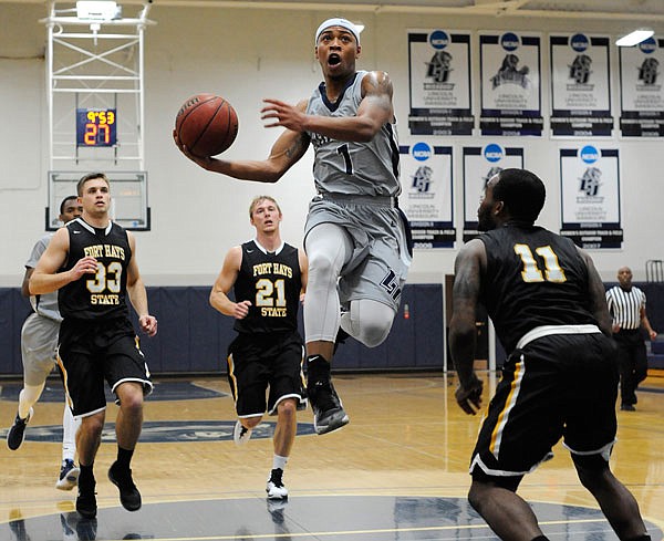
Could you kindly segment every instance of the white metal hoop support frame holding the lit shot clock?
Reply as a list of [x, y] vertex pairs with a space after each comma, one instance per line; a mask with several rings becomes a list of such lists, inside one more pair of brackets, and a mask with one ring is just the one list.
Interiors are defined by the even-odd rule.
[[122, 8], [111, 17], [81, 15], [76, 3], [49, 1], [49, 17], [40, 21], [48, 31], [46, 226], [56, 225], [54, 207], [82, 171], [103, 170], [124, 183], [115, 197], [116, 220], [149, 229], [144, 31], [154, 24], [147, 19], [152, 0], [136, 6], [133, 18], [123, 17]]

